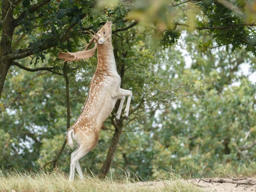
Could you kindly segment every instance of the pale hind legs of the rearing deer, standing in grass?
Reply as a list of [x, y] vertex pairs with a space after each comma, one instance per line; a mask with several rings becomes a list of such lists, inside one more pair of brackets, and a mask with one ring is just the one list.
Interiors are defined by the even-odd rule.
[[89, 152], [89, 150], [84, 150], [84, 148], [82, 148], [81, 146], [79, 146], [79, 148], [76, 149], [76, 151], [74, 151], [71, 154], [71, 162], [70, 162], [70, 177], [69, 180], [73, 181], [74, 177], [75, 177], [75, 167], [76, 170], [80, 176], [81, 179], [84, 178], [81, 166], [79, 164], [79, 159], [81, 159], [82, 157], [84, 157], [84, 155], [86, 155]]

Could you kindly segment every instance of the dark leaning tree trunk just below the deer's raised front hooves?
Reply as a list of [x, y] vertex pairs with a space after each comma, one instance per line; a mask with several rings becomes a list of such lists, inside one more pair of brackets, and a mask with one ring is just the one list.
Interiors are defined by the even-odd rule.
[[112, 123], [114, 124], [116, 130], [115, 130], [115, 134], [113, 136], [113, 139], [111, 141], [111, 145], [108, 149], [108, 154], [107, 154], [106, 160], [105, 160], [105, 162], [102, 166], [102, 169], [100, 171], [100, 173], [102, 174], [103, 177], [105, 177], [108, 174], [108, 171], [110, 169], [112, 160], [114, 158], [114, 154], [116, 152], [117, 145], [119, 144], [120, 136], [121, 136], [121, 133], [122, 133], [122, 126], [123, 126], [122, 122], [120, 122], [120, 126], [118, 126], [118, 125], [115, 124], [115, 122], [113, 122], [114, 121], [113, 119], [111, 119], [111, 120], [112, 120]]

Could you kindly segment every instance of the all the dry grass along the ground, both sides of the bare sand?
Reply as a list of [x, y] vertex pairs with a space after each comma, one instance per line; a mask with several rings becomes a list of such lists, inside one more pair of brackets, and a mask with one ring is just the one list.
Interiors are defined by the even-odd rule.
[[[208, 168], [212, 169], [212, 168]], [[175, 173], [165, 172], [160, 175], [158, 181], [139, 182], [130, 177], [124, 177], [121, 180], [113, 180], [107, 177], [104, 180], [99, 179], [95, 175], [86, 176], [85, 180], [79, 180], [76, 175], [74, 182], [68, 181], [68, 175], [63, 172], [38, 172], [38, 173], [20, 173], [20, 172], [0, 172], [0, 192], [202, 192], [203, 189], [195, 184], [186, 182], [185, 179], [191, 179], [193, 175], [202, 172], [193, 172], [190, 176], [177, 175]], [[191, 176], [192, 175], [192, 176]], [[255, 177], [256, 164], [251, 166], [218, 166], [214, 171], [207, 171], [204, 177], [219, 177], [219, 178], [235, 178], [235, 177]]]

